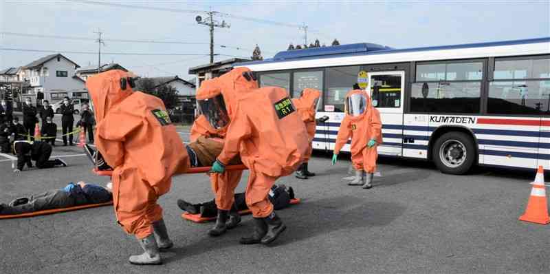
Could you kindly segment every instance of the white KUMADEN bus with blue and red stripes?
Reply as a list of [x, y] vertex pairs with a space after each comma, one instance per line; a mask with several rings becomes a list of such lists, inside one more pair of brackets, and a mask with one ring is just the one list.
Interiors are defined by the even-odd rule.
[[381, 155], [433, 160], [453, 174], [475, 163], [550, 168], [550, 37], [410, 49], [359, 43], [241, 66], [293, 97], [322, 91], [317, 116], [329, 120], [317, 125], [314, 149], [334, 148], [344, 98], [366, 81], [382, 116]]

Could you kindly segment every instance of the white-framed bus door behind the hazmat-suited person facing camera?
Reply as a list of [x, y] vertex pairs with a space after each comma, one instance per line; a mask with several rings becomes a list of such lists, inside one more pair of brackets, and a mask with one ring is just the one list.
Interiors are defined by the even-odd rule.
[[403, 154], [403, 99], [405, 72], [369, 72], [366, 90], [382, 119], [382, 140], [378, 153], [391, 156]]

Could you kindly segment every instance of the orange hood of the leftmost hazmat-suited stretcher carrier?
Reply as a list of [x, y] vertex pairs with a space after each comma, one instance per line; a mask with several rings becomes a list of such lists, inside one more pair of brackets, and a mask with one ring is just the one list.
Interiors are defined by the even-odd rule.
[[126, 84], [126, 89], [121, 87], [121, 79], [132, 76], [133, 74], [123, 70], [109, 70], [88, 78], [86, 87], [94, 103], [97, 123], [103, 120], [110, 109], [132, 94], [129, 84]]

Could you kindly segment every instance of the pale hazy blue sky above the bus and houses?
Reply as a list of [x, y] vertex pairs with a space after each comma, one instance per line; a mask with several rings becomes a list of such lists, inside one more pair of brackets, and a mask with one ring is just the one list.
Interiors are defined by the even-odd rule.
[[[223, 17], [216, 18], [230, 24], [230, 28], [214, 30], [214, 53], [224, 54], [215, 56], [215, 61], [233, 56], [250, 58], [256, 44], [261, 48], [264, 58], [286, 50], [289, 43], [303, 44], [304, 32], [298, 28], [299, 25], [307, 25], [307, 43], [319, 39], [321, 43], [330, 45], [336, 38], [340, 44], [378, 43], [393, 48], [550, 36], [550, 0], [0, 0], [0, 70], [26, 65], [52, 54], [5, 50], [8, 48], [51, 50], [67, 56], [82, 67], [97, 65], [98, 43], [94, 39], [98, 34], [94, 32], [100, 30], [105, 39], [102, 52], [107, 52], [101, 56], [102, 63], [119, 63], [140, 76], [178, 75], [184, 79], [192, 78], [188, 74], [189, 67], [210, 61], [208, 27], [195, 21], [197, 15], [206, 17], [205, 12], [210, 8], [222, 12]], [[67, 36], [78, 39], [61, 39]]]

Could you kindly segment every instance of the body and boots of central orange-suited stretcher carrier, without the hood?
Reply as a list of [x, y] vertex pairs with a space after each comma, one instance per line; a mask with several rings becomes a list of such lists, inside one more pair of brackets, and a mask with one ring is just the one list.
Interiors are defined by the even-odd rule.
[[[250, 169], [245, 200], [255, 224], [254, 233], [240, 242], [269, 244], [286, 226], [274, 213], [267, 193], [277, 178], [288, 176], [301, 165], [309, 149], [309, 136], [285, 89], [262, 87], [239, 95], [223, 150], [210, 171], [223, 173], [225, 165], [240, 154]], [[212, 109], [224, 112], [223, 105], [214, 103], [218, 100], [221, 98], [208, 101]]]

